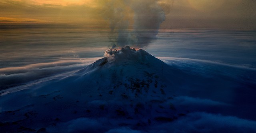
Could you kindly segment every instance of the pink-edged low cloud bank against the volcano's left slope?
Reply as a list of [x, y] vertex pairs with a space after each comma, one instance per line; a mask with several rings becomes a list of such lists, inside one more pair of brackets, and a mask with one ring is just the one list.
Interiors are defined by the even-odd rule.
[[26, 84], [60, 73], [78, 71], [98, 58], [30, 64], [22, 67], [0, 68], [0, 90]]

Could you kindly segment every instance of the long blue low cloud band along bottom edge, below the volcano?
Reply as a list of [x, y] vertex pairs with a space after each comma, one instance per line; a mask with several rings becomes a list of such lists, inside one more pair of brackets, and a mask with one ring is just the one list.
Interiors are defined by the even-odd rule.
[[[46, 128], [51, 133], [68, 131], [68, 133], [254, 133], [255, 121], [240, 119], [233, 116], [216, 115], [205, 112], [189, 113], [180, 119], [168, 123], [152, 123], [147, 126], [133, 127], [105, 123], [101, 118], [78, 118], [56, 127]], [[110, 120], [113, 121], [113, 120]], [[118, 120], [116, 123], [120, 122]]]

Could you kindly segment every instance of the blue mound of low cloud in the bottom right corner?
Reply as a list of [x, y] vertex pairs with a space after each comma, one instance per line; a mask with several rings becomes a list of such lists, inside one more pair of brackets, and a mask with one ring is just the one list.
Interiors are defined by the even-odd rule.
[[254, 133], [256, 122], [204, 112], [190, 113], [172, 123], [150, 128], [150, 133]]

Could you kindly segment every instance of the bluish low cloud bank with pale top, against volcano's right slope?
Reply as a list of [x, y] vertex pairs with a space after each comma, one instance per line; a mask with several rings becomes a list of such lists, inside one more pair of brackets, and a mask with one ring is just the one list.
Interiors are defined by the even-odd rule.
[[238, 82], [242, 81], [243, 83], [256, 84], [256, 81], [254, 80], [256, 78], [256, 69], [253, 67], [189, 58], [157, 58], [172, 67], [177, 67], [178, 69], [196, 75], [200, 74], [205, 77], [225, 76], [238, 80]]

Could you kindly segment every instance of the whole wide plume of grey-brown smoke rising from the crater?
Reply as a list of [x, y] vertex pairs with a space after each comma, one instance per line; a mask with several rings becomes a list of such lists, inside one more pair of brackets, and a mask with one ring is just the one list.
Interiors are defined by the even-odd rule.
[[102, 16], [109, 21], [111, 29], [111, 47], [142, 48], [156, 39], [172, 0], [108, 0], [103, 4]]

